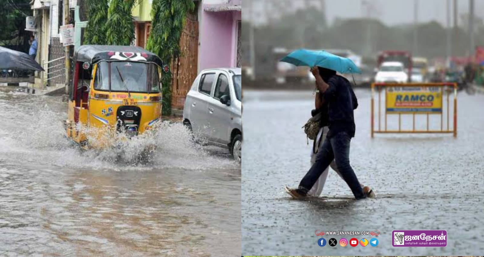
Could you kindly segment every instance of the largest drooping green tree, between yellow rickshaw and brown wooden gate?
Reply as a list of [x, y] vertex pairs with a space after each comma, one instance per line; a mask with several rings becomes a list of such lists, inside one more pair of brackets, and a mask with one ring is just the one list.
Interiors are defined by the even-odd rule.
[[180, 56], [180, 37], [186, 14], [195, 8], [193, 0], [153, 0], [151, 32], [146, 49], [165, 63], [162, 82], [163, 114], [171, 114], [171, 60]]

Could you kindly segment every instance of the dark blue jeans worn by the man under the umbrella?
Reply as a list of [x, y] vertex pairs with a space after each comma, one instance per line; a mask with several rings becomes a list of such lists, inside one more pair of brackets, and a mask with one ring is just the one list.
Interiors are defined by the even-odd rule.
[[319, 147], [315, 163], [302, 178], [299, 188], [307, 193], [334, 159], [341, 176], [348, 184], [355, 198], [366, 198], [353, 168], [349, 165], [350, 141], [351, 137], [346, 132], [339, 132], [331, 138], [324, 139], [323, 144]]

